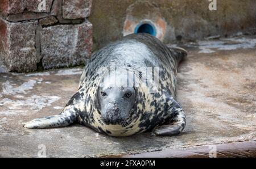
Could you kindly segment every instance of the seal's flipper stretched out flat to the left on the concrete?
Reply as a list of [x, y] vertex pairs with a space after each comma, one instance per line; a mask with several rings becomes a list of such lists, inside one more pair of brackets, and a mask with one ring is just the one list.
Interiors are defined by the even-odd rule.
[[73, 107], [66, 107], [59, 115], [47, 116], [24, 123], [25, 128], [42, 129], [57, 128], [72, 124], [77, 120], [78, 113]]

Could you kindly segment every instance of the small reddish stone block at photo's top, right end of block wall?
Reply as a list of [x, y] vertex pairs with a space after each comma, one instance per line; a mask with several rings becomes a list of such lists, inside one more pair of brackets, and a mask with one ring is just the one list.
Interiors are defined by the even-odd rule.
[[63, 0], [64, 19], [81, 19], [90, 15], [92, 0]]

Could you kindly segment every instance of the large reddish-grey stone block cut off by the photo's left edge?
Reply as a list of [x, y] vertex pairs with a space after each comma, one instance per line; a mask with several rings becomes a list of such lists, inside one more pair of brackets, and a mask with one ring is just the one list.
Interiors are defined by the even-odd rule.
[[11, 23], [0, 19], [0, 60], [6, 71], [36, 70], [35, 30], [37, 21]]

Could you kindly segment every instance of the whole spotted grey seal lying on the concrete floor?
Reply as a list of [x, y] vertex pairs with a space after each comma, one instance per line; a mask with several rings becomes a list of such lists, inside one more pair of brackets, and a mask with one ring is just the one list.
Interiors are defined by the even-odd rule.
[[26, 122], [25, 128], [56, 128], [79, 122], [109, 136], [151, 131], [172, 136], [186, 117], [175, 100], [177, 66], [187, 56], [146, 33], [127, 35], [92, 54], [79, 89], [59, 115]]

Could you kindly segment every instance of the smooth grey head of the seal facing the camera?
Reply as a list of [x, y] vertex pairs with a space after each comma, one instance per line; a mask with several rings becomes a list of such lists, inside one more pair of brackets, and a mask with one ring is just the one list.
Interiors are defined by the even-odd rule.
[[[98, 109], [105, 124], [123, 124], [129, 118], [136, 101], [137, 93], [133, 86], [122, 85], [115, 79], [122, 79], [107, 75], [102, 79], [97, 90]], [[126, 78], [125, 78], [126, 80]]]

